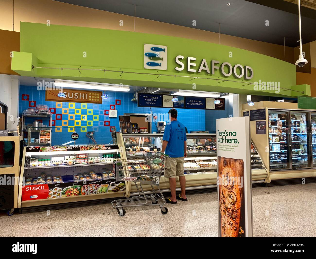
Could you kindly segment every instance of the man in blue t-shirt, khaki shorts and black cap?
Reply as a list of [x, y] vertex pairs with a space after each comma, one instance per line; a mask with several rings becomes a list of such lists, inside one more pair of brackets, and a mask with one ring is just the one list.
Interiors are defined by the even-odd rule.
[[[176, 204], [177, 200], [188, 200], [185, 196], [184, 157], [186, 157], [186, 134], [185, 126], [177, 120], [178, 111], [169, 110], [170, 124], [165, 127], [163, 134], [162, 152], [169, 157], [165, 161], [165, 178], [169, 178], [171, 197], [167, 203]], [[179, 176], [181, 194], [176, 196], [176, 176]]]

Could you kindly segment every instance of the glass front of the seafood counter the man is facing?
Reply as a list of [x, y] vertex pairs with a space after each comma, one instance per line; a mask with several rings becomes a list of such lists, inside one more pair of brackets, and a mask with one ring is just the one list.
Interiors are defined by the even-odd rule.
[[[153, 155], [161, 152], [163, 134], [122, 134], [126, 158], [141, 157], [143, 154]], [[184, 159], [185, 174], [205, 174], [217, 171], [216, 134], [186, 134], [187, 157]], [[252, 169], [265, 167], [251, 144]]]

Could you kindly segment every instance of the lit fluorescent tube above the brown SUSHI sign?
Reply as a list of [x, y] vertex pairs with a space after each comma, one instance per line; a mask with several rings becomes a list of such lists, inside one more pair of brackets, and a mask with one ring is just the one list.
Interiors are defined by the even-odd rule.
[[128, 85], [115, 85], [115, 84], [99, 84], [99, 83], [77, 83], [67, 81], [55, 81], [55, 86], [63, 88], [78, 88], [85, 90], [101, 90], [101, 91], [119, 91], [129, 92], [130, 88]]

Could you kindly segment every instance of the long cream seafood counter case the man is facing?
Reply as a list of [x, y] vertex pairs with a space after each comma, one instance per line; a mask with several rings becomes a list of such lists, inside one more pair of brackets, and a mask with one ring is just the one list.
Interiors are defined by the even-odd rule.
[[[135, 136], [135, 134], [117, 133], [118, 144], [126, 151], [127, 159], [139, 158], [143, 154], [150, 155], [161, 152], [163, 134], [146, 134], [146, 136]], [[187, 189], [217, 188], [217, 154], [216, 134], [186, 134], [187, 157], [184, 158], [184, 173]], [[264, 183], [267, 178], [267, 170], [262, 163], [261, 156], [252, 143], [252, 180]], [[177, 188], [179, 188], [177, 182]], [[169, 190], [169, 181], [164, 176], [160, 179], [160, 188]], [[151, 187], [145, 187], [150, 190]], [[132, 184], [131, 193], [137, 192]]]

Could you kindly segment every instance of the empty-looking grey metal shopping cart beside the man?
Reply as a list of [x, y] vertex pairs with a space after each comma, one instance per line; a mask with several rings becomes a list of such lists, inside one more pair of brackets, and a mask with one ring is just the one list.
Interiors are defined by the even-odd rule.
[[[157, 205], [160, 206], [162, 214], [168, 213], [167, 207], [164, 207], [166, 200], [159, 188], [161, 171], [166, 157], [167, 155], [164, 154], [155, 154], [150, 157], [143, 155], [143, 158], [140, 159], [121, 159], [113, 162], [116, 180], [134, 182], [139, 194], [132, 198], [112, 201], [113, 208], [117, 209], [121, 217], [126, 213], [123, 207], [132, 206]], [[150, 184], [153, 193], [145, 195], [142, 184]], [[158, 193], [154, 186], [158, 188]]]

